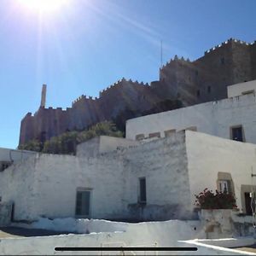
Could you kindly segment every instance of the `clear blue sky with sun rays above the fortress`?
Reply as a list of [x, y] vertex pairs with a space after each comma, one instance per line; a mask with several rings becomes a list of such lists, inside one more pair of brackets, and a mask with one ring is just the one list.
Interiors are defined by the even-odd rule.
[[122, 77], [158, 79], [160, 40], [164, 63], [174, 55], [195, 60], [228, 38], [256, 40], [254, 0], [68, 0], [49, 13], [19, 1], [0, 7], [4, 148], [17, 147], [20, 120], [37, 111], [44, 83], [47, 107], [67, 108]]

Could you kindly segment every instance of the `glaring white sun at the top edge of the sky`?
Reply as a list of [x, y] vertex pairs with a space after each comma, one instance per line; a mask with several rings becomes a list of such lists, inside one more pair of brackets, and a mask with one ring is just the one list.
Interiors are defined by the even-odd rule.
[[38, 12], [51, 12], [61, 9], [68, 0], [20, 0], [20, 4]]

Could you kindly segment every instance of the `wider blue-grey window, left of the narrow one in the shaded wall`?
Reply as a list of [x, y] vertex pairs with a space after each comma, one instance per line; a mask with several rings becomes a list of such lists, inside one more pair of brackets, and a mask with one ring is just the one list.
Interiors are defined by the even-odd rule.
[[90, 193], [91, 190], [77, 191], [76, 215], [90, 217]]

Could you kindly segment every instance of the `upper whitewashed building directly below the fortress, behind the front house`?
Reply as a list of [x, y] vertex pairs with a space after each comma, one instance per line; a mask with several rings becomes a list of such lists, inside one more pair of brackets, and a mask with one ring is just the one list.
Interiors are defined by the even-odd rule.
[[126, 138], [168, 137], [176, 131], [200, 131], [217, 137], [256, 143], [256, 80], [229, 86], [229, 98], [154, 113], [126, 122]]

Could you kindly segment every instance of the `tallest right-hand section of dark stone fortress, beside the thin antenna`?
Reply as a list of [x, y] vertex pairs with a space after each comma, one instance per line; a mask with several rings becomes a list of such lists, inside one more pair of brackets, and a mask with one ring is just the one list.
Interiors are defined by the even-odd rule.
[[179, 97], [185, 106], [224, 99], [230, 84], [256, 78], [255, 56], [255, 41], [247, 44], [233, 38], [195, 61], [176, 55], [160, 69], [159, 91], [166, 98]]

